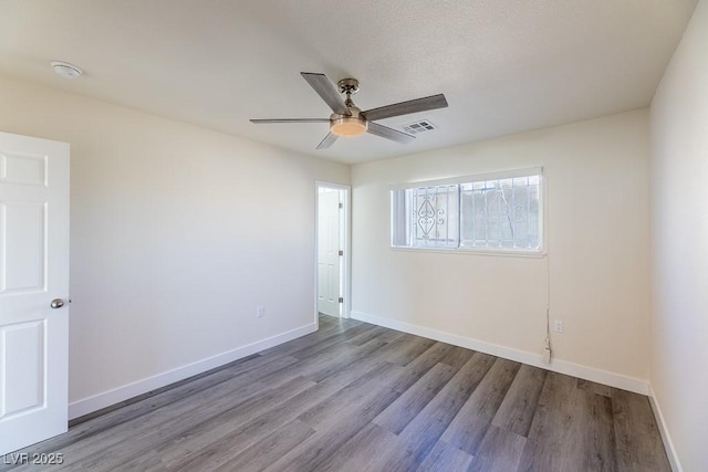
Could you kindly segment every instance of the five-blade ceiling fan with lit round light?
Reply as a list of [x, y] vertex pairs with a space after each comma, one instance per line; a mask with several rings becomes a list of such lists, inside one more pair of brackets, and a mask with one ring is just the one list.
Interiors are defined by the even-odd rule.
[[[438, 94], [362, 112], [352, 101], [352, 95], [358, 92], [358, 81], [356, 78], [342, 78], [335, 86], [324, 74], [311, 72], [301, 72], [300, 74], [334, 113], [330, 115], [329, 118], [251, 119], [251, 123], [257, 125], [273, 123], [329, 123], [330, 133], [322, 139], [322, 143], [317, 145], [317, 149], [326, 149], [332, 146], [340, 136], [360, 136], [364, 133], [371, 133], [372, 135], [381, 136], [382, 138], [396, 143], [410, 143], [415, 139], [415, 136], [379, 125], [374, 123], [374, 120], [428, 109], [445, 108], [447, 106], [445, 95]], [[342, 94], [346, 95], [346, 99], [342, 99]]]

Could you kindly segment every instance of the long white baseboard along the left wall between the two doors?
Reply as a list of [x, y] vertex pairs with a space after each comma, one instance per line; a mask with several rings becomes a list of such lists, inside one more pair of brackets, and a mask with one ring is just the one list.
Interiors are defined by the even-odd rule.
[[113, 390], [104, 391], [92, 397], [73, 401], [69, 403], [69, 419], [73, 420], [94, 411], [98, 411], [101, 409], [119, 403], [121, 401], [128, 400], [148, 391], [166, 387], [170, 384], [184, 380], [191, 376], [206, 373], [207, 370], [211, 370], [214, 368], [250, 356], [251, 354], [260, 353], [261, 350], [278, 346], [279, 344], [283, 344], [301, 336], [305, 336], [310, 333], [314, 333], [315, 331], [317, 331], [316, 323], [311, 323], [309, 325], [281, 333], [275, 336], [271, 336], [269, 338], [239, 347], [237, 349], [218, 354], [216, 356], [208, 357], [206, 359], [198, 360], [196, 363], [188, 364], [186, 366], [135, 381], [133, 384], [124, 385]]

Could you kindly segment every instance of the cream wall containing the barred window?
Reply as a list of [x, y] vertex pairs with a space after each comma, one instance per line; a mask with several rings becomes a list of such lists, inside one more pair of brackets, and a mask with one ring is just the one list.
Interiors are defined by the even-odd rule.
[[560, 370], [591, 370], [595, 379], [646, 391], [648, 153], [643, 109], [354, 166], [354, 316], [540, 360], [549, 261], [393, 250], [388, 190], [393, 183], [543, 166], [551, 317], [565, 322], [565, 333], [552, 336], [555, 366], [560, 360]]

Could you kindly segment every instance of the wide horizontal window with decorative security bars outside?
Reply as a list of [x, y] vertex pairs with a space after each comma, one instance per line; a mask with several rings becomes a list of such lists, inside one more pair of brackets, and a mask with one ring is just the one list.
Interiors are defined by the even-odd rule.
[[392, 245], [538, 253], [541, 183], [541, 169], [527, 169], [398, 186]]

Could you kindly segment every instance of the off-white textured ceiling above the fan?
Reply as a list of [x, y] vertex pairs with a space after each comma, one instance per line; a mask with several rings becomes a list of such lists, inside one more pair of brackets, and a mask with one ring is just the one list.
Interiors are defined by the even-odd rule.
[[[696, 1], [0, 0], [0, 74], [353, 164], [647, 106]], [[408, 145], [315, 150], [326, 124], [248, 120], [329, 117], [301, 71], [449, 107], [379, 122], [438, 126]]]

